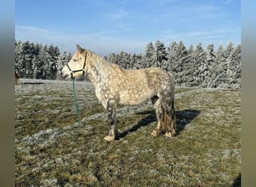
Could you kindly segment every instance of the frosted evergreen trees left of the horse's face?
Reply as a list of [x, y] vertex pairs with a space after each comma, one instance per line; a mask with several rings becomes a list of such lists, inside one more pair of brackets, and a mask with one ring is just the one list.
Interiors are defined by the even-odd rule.
[[61, 79], [61, 69], [71, 57], [58, 46], [15, 41], [15, 70], [21, 78]]

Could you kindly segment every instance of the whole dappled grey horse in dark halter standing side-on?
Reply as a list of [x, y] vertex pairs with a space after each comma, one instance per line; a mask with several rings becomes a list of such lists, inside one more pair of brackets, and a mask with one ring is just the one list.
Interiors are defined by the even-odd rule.
[[77, 51], [63, 68], [64, 79], [87, 75], [95, 86], [97, 98], [108, 112], [109, 135], [104, 139], [118, 138], [115, 113], [118, 105], [140, 105], [151, 99], [156, 110], [156, 128], [151, 135], [175, 135], [174, 78], [158, 67], [141, 70], [124, 70], [99, 55], [76, 45]]

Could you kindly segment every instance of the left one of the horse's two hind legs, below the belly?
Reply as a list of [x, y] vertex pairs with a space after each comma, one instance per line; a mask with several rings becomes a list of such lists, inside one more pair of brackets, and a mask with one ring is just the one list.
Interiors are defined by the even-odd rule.
[[151, 135], [156, 136], [156, 135], [160, 135], [161, 131], [162, 131], [162, 119], [163, 119], [163, 110], [162, 110], [162, 103], [161, 103], [161, 99], [158, 96], [153, 96], [153, 98], [151, 99], [152, 104], [153, 104], [153, 108], [155, 108], [156, 110], [156, 129], [154, 129], [151, 132]]

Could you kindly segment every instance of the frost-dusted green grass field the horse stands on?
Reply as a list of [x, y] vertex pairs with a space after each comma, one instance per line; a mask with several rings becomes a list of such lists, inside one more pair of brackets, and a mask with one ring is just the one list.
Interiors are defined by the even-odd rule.
[[120, 139], [90, 83], [16, 85], [16, 186], [239, 186], [240, 91], [177, 88], [178, 135], [153, 137], [150, 102], [118, 108]]

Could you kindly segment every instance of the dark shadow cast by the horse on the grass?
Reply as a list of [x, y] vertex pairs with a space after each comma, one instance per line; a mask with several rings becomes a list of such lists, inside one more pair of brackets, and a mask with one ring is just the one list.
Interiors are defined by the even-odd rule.
[[[185, 129], [185, 126], [189, 124], [192, 120], [197, 117], [201, 111], [194, 110], [194, 109], [185, 109], [183, 111], [176, 111], [176, 132], [177, 135], [180, 134], [183, 129]], [[124, 132], [121, 132], [119, 134], [119, 138], [124, 138], [126, 135], [128, 135], [131, 132], [135, 132], [142, 126], [147, 126], [149, 123], [156, 121], [156, 113], [154, 110], [148, 110], [148, 111], [141, 111], [136, 114], [148, 114], [147, 117], [144, 117], [143, 119], [139, 120], [138, 123], [136, 123], [134, 126], [132, 126], [130, 129], [127, 129]]]

